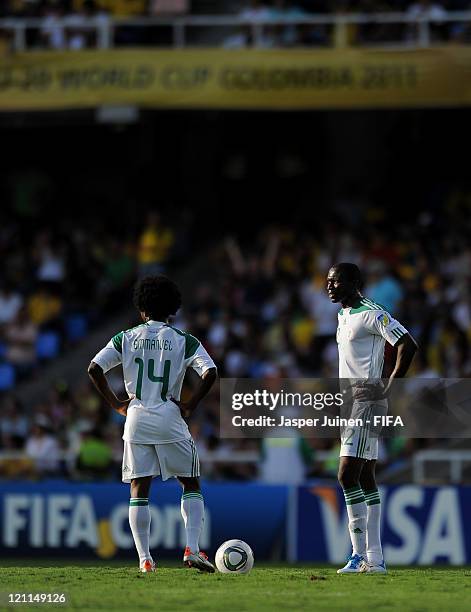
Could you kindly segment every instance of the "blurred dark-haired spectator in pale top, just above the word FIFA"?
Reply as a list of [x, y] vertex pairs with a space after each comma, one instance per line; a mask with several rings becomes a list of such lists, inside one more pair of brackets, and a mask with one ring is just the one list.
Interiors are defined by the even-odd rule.
[[34, 461], [37, 475], [53, 476], [59, 472], [60, 447], [51, 433], [51, 423], [45, 417], [36, 418], [25, 451]]

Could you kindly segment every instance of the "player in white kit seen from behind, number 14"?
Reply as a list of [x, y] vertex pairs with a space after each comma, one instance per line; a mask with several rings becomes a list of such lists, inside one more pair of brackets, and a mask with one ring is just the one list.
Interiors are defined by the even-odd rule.
[[[195, 410], [217, 377], [216, 366], [199, 340], [168, 320], [181, 306], [177, 285], [165, 276], [150, 276], [136, 285], [134, 303], [142, 325], [116, 334], [92, 360], [88, 373], [108, 404], [126, 417], [122, 479], [131, 484], [129, 524], [142, 572], [155, 571], [149, 551], [149, 492], [152, 478], [175, 476], [183, 487], [181, 512], [186, 530], [183, 562], [214, 572], [199, 550], [204, 502], [195, 443], [183, 417]], [[105, 373], [122, 364], [128, 399], [116, 397]], [[180, 392], [187, 368], [200, 382], [187, 402]]]

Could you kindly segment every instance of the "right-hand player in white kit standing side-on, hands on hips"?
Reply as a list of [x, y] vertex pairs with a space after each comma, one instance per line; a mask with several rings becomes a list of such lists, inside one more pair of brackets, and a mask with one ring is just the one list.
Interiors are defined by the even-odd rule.
[[[352, 263], [337, 264], [327, 275], [327, 293], [332, 302], [342, 305], [337, 327], [339, 378], [370, 379], [369, 386], [354, 383], [354, 406], [360, 414], [366, 411], [385, 414], [391, 384], [406, 375], [417, 344], [380, 304], [361, 294], [362, 284], [360, 270]], [[394, 369], [382, 386], [378, 379], [383, 370], [385, 342], [397, 348], [397, 356]], [[338, 479], [345, 495], [353, 550], [339, 574], [387, 571], [381, 547], [377, 458], [377, 433], [373, 434], [367, 426], [342, 431]]]

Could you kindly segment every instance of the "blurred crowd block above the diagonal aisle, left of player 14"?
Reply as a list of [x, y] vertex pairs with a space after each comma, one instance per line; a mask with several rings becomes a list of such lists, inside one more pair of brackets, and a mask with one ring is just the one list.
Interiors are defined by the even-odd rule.
[[[36, 191], [34, 180], [23, 185]], [[37, 376], [42, 362], [71, 349], [100, 317], [119, 309], [137, 273], [163, 269], [174, 239], [156, 213], [137, 237], [119, 241], [75, 220], [39, 229], [28, 214], [3, 222], [0, 391]]]

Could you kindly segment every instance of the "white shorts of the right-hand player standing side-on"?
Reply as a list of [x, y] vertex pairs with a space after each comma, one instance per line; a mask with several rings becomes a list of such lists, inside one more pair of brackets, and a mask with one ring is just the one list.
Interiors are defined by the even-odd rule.
[[360, 402], [354, 406], [351, 418], [361, 418], [363, 425], [342, 427], [340, 457], [377, 459], [381, 427], [374, 426], [373, 417], [375, 415], [384, 416], [387, 414], [387, 411], [387, 404], [384, 402], [373, 405], [368, 402]]

